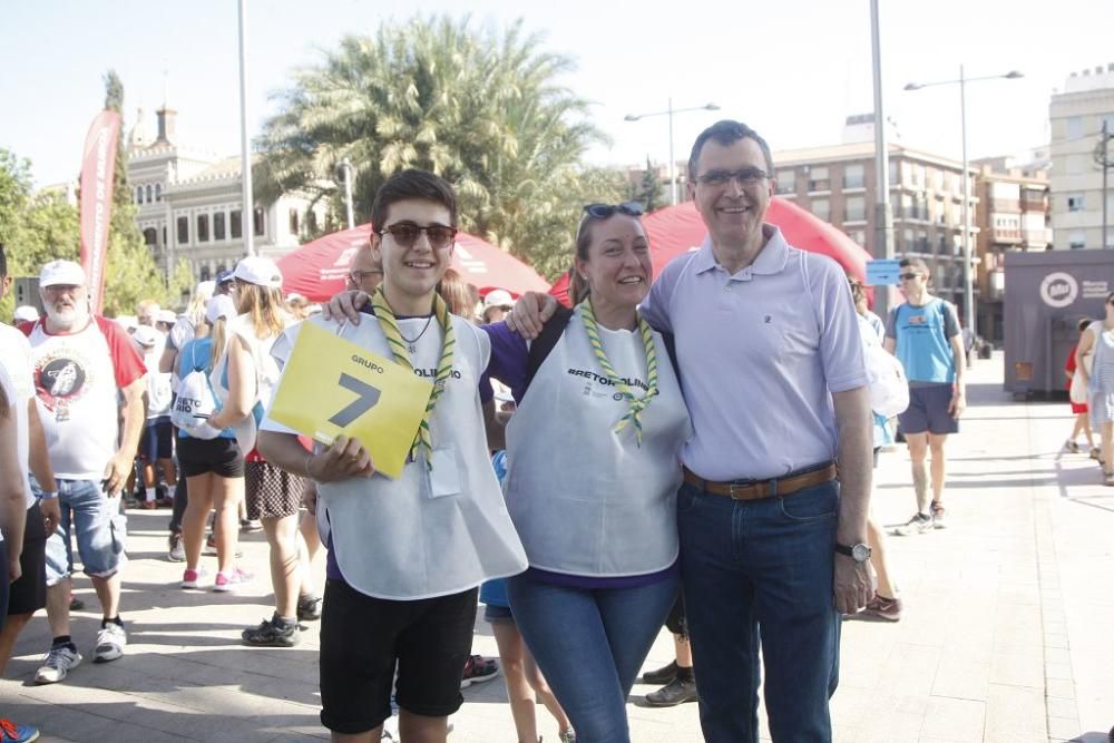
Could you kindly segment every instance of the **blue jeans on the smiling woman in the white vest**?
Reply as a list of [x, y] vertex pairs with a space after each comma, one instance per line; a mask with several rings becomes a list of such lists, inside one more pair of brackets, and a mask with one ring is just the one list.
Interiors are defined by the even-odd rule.
[[677, 595], [677, 579], [582, 589], [507, 581], [515, 622], [580, 743], [631, 740], [626, 698]]

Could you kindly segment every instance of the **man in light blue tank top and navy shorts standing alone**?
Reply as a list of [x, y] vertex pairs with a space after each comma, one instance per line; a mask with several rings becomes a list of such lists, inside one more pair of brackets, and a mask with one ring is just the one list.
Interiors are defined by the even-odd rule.
[[[929, 293], [928, 265], [907, 257], [899, 266], [906, 302], [890, 311], [885, 344], [909, 379], [909, 408], [898, 416], [898, 423], [912, 460], [917, 512], [897, 534], [911, 535], [944, 528], [944, 444], [949, 433], [959, 432], [959, 417], [967, 408], [966, 354], [955, 305]], [[925, 468], [929, 451], [931, 480]]]

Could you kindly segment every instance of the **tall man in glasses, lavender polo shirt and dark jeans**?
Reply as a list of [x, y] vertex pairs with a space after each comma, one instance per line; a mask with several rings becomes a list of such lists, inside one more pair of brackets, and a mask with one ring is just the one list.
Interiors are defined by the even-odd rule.
[[[666, 266], [642, 306], [675, 336], [695, 431], [677, 521], [713, 743], [759, 740], [760, 644], [773, 740], [831, 741], [840, 614], [863, 607], [870, 587], [871, 417], [854, 305], [839, 265], [763, 223], [773, 172], [765, 141], [737, 121], [697, 137], [688, 193], [709, 239]], [[536, 333], [537, 304], [520, 301], [508, 322]]]

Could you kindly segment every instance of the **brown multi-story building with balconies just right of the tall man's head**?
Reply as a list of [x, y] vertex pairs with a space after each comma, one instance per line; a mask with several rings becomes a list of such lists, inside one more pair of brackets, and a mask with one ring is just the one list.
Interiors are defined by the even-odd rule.
[[[783, 150], [773, 154], [773, 162], [780, 196], [793, 199], [846, 232], [871, 255], [882, 257], [874, 233], [873, 117], [866, 118], [871, 119], [871, 126], [863, 126], [864, 117], [848, 118], [844, 139], [850, 140], [844, 144]], [[888, 144], [887, 148], [895, 255], [924, 258], [935, 293], [961, 307], [962, 164], [901, 144]], [[968, 169], [973, 182], [976, 173], [974, 167]], [[974, 183], [969, 193], [971, 231], [977, 234]]]

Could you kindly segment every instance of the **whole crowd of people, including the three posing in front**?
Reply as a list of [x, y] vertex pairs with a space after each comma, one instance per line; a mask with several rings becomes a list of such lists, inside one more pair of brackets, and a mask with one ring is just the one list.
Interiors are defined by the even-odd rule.
[[[830, 741], [842, 619], [902, 609], [869, 514], [892, 439], [864, 358], [885, 348], [907, 370], [917, 515], [899, 532], [913, 534], [944, 526], [962, 345], [922, 262], [902, 263], [908, 302], [883, 322], [836, 262], [790, 245], [764, 221], [773, 173], [753, 129], [703, 131], [688, 188], [709, 236], [656, 280], [641, 205], [586, 206], [570, 307], [479, 297], [449, 267], [453, 188], [421, 170], [379, 189], [349, 290], [323, 312], [246, 257], [180, 314], [143, 303], [111, 321], [90, 312], [78, 264], [48, 263], [46, 314], [0, 325], [0, 671], [42, 607], [37, 683], [89, 652], [69, 633], [75, 541], [102, 610], [94, 659], [125, 654], [135, 493], [173, 502], [167, 558], [186, 590], [257, 580], [236, 560], [241, 531], [262, 528], [274, 610], [242, 639], [291, 647], [320, 619], [334, 741], [392, 736], [395, 711], [402, 740], [444, 741], [461, 688], [498, 672], [471, 653], [479, 602], [519, 741], [540, 740], [538, 701], [563, 743], [628, 741], [626, 700], [663, 626], [676, 659], [644, 674], [663, 686], [651, 704], [698, 700], [705, 740], [758, 741], [764, 676], [774, 741]], [[368, 442], [325, 444], [270, 414], [311, 324], [433, 382], [399, 477]], [[37, 735], [11, 730], [0, 740]]]

